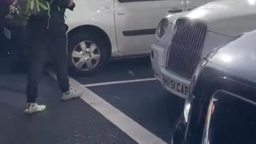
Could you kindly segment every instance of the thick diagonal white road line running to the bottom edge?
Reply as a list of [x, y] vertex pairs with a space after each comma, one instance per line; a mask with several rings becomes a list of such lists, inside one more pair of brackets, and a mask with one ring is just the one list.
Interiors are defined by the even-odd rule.
[[[54, 78], [56, 76], [49, 72]], [[104, 99], [99, 97], [97, 94], [94, 94], [93, 91], [87, 89], [85, 86], [82, 86], [79, 82], [75, 81], [73, 78], [70, 78], [70, 86], [82, 90], [82, 100], [93, 107], [98, 113], [102, 114], [115, 126], [118, 126], [120, 130], [125, 132], [130, 138], [133, 138], [135, 142], [139, 144], [167, 144], [161, 138], [158, 138], [156, 135], [152, 134], [149, 130], [146, 130], [144, 127], [140, 126], [137, 122], [134, 122], [133, 119], [123, 114], [120, 110], [110, 105], [109, 102], [106, 102]]]

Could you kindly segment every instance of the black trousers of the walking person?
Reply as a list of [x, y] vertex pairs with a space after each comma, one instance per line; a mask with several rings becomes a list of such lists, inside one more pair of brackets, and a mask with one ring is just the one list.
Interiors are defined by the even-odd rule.
[[66, 30], [63, 28], [44, 30], [38, 26], [28, 28], [30, 46], [29, 69], [27, 78], [27, 102], [34, 103], [38, 97], [38, 80], [48, 58], [51, 58], [56, 70], [58, 84], [62, 92], [70, 90], [68, 80], [68, 59]]

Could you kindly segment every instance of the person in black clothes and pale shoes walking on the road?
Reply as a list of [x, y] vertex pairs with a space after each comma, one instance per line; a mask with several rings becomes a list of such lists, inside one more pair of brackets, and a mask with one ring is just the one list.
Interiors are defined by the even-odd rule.
[[38, 78], [49, 56], [57, 72], [58, 83], [62, 90], [62, 99], [78, 98], [81, 92], [70, 89], [67, 74], [66, 30], [64, 14], [67, 8], [74, 7], [73, 0], [54, 0], [50, 6], [50, 15], [46, 18], [30, 17], [27, 26], [30, 46], [30, 64], [27, 82], [27, 106], [25, 113], [34, 114], [46, 109], [38, 105]]

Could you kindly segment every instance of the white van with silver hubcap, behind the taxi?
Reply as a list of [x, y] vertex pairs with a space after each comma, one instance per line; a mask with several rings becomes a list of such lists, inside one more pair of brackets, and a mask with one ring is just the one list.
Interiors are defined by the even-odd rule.
[[164, 16], [206, 1], [77, 0], [74, 11], [66, 11], [70, 66], [77, 74], [87, 74], [110, 58], [149, 55]]

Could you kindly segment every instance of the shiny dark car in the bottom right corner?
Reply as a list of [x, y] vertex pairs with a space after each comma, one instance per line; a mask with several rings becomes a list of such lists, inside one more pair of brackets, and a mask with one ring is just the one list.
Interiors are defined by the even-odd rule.
[[256, 31], [198, 65], [174, 144], [256, 143]]

